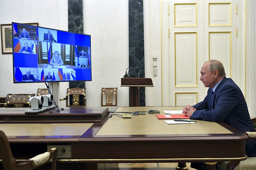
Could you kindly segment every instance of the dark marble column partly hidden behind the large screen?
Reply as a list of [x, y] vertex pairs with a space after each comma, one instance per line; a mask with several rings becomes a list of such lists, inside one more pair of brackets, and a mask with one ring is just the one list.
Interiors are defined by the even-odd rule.
[[[83, 0], [68, 0], [68, 31], [84, 33]], [[69, 88], [84, 87], [84, 81], [69, 82]]]

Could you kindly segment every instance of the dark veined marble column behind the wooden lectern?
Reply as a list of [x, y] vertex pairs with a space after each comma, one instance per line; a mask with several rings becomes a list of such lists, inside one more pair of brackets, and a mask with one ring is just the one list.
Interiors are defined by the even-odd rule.
[[[143, 0], [129, 0], [129, 66], [143, 59]], [[130, 68], [129, 76], [132, 78], [145, 78], [144, 60]], [[140, 87], [140, 106], [145, 106], [145, 103], [145, 87]]]

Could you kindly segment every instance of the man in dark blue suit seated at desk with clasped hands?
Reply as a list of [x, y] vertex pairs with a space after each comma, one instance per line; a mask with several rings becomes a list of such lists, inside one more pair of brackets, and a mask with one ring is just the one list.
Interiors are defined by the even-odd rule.
[[[190, 119], [225, 122], [241, 132], [255, 132], [244, 95], [231, 78], [226, 78], [223, 64], [206, 61], [200, 72], [200, 80], [209, 87], [207, 96], [194, 106], [184, 107], [183, 114]], [[256, 140], [245, 141], [245, 154], [256, 157]], [[203, 164], [191, 163], [190, 167], [201, 170]]]

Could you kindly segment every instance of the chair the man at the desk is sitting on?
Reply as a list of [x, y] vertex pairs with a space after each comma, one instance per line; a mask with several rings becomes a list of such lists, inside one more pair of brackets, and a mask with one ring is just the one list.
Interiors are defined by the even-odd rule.
[[[252, 118], [252, 123], [256, 129], [256, 117]], [[249, 140], [256, 140], [256, 132], [244, 132]], [[243, 161], [224, 161], [217, 165], [219, 170], [255, 170], [256, 169], [256, 157], [248, 157]]]

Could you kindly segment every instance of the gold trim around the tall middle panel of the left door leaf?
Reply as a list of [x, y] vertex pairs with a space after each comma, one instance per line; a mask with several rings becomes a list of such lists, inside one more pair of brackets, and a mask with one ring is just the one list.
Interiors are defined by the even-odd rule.
[[[177, 85], [177, 76], [176, 76], [176, 35], [177, 34], [196, 34], [196, 85]], [[175, 87], [197, 87], [198, 86], [198, 41], [197, 41], [197, 32], [183, 32], [183, 33], [174, 33], [174, 72], [175, 72]]]

